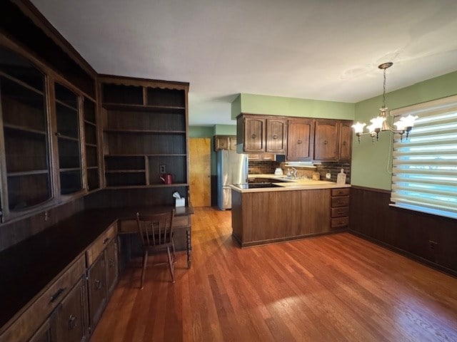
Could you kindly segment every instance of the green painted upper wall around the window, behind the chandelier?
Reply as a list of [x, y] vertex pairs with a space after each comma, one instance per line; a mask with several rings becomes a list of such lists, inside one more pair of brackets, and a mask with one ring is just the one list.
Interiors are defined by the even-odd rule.
[[[387, 94], [389, 110], [457, 95], [457, 71]], [[369, 123], [378, 114], [382, 96], [356, 103], [354, 121]], [[414, 129], [411, 134], [414, 134]], [[391, 133], [380, 133], [378, 142], [368, 136], [358, 144], [354, 136], [352, 147], [351, 184], [361, 187], [391, 190]]]

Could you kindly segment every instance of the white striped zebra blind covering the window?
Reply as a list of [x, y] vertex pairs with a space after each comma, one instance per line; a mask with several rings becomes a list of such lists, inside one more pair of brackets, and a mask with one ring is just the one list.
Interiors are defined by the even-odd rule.
[[409, 138], [393, 143], [391, 202], [457, 218], [457, 96], [391, 114], [419, 116]]

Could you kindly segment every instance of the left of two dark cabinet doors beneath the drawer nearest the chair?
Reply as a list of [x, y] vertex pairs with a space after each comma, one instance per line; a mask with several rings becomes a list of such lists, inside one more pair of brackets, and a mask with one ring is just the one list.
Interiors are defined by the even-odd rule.
[[88, 271], [89, 287], [89, 319], [91, 330], [94, 331], [96, 323], [106, 304], [106, 266], [105, 252], [92, 264]]

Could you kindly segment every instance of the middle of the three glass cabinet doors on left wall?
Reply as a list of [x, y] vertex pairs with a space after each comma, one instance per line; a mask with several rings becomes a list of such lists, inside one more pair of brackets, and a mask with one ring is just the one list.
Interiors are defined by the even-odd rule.
[[57, 148], [61, 195], [82, 189], [79, 98], [68, 88], [55, 83]]

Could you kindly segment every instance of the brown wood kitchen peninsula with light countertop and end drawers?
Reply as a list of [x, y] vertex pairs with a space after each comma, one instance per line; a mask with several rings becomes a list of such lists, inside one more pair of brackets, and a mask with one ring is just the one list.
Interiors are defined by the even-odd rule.
[[241, 247], [341, 232], [351, 185], [256, 175], [271, 187], [231, 185], [232, 237]]

